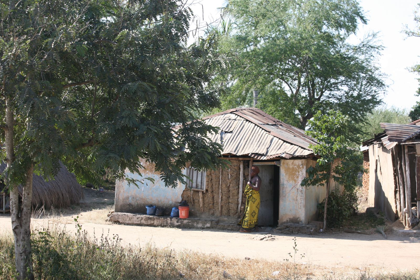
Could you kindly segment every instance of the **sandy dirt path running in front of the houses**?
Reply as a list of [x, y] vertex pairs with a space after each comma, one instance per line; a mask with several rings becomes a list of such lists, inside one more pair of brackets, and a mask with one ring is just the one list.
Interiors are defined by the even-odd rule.
[[[44, 226], [47, 219], [35, 219], [34, 226]], [[49, 220], [51, 224], [51, 220]], [[57, 222], [57, 220], [55, 220]], [[74, 224], [65, 222], [66, 230], [75, 231]], [[64, 223], [60, 223], [61, 226]], [[130, 225], [100, 225], [83, 223], [84, 230], [92, 236], [100, 236], [102, 231], [112, 236], [118, 234], [123, 242], [144, 246], [151, 242], [157, 247], [177, 250], [194, 250], [203, 253], [252, 259], [262, 258], [283, 261], [293, 253], [294, 236], [275, 235], [273, 241], [252, 239], [261, 233], [239, 233], [215, 230], [186, 230], [176, 228], [152, 228]], [[10, 217], [0, 217], [0, 234], [11, 232]], [[331, 267], [331, 269], [373, 268], [393, 271], [419, 268], [420, 256], [409, 252], [420, 250], [420, 238], [389, 236], [384, 239], [379, 234], [371, 236], [358, 234], [323, 234], [320, 236], [297, 236], [298, 254], [305, 254], [304, 262], [310, 265]], [[289, 258], [290, 259], [290, 258]]]

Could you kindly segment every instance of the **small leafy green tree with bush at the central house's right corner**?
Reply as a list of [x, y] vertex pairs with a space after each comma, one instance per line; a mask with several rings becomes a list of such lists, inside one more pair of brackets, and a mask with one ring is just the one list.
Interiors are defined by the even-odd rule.
[[[318, 204], [318, 213], [322, 212], [324, 216], [324, 228], [326, 225], [335, 227], [348, 219], [357, 203], [355, 187], [358, 175], [360, 172], [366, 172], [362, 165], [362, 153], [348, 147], [345, 136], [349, 128], [349, 118], [341, 112], [330, 110], [323, 114], [318, 111], [308, 123], [310, 130], [306, 133], [320, 144], [310, 146], [318, 159], [315, 166], [307, 168], [307, 177], [301, 185], [327, 186], [326, 217], [324, 208], [321, 207], [325, 206], [325, 199]], [[331, 179], [344, 187], [343, 195], [336, 191], [328, 194]], [[328, 196], [331, 196], [331, 199], [328, 199]]]

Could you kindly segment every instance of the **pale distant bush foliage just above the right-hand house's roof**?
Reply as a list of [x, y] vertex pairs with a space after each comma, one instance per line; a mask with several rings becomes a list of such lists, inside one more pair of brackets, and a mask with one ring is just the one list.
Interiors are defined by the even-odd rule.
[[365, 141], [375, 137], [375, 135], [382, 133], [380, 123], [399, 123], [407, 124], [410, 122], [410, 117], [405, 109], [396, 107], [381, 106], [375, 108], [372, 113], [366, 115], [365, 121], [358, 125], [362, 132], [360, 139]]

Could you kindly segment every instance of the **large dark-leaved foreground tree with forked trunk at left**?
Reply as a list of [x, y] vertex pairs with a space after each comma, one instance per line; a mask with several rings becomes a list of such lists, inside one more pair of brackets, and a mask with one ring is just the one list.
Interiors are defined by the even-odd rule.
[[142, 157], [170, 186], [185, 162], [215, 168], [215, 128], [192, 120], [219, 105], [213, 77], [225, 60], [212, 34], [186, 47], [191, 13], [176, 0], [10, 0], [0, 13], [2, 177], [18, 278], [33, 279], [33, 173], [52, 180], [62, 161], [80, 182], [104, 168], [122, 179]]

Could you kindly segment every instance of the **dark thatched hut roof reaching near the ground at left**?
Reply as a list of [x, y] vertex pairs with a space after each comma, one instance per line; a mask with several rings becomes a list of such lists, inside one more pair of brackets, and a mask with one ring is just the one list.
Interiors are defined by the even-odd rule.
[[[45, 182], [42, 176], [34, 174], [32, 181], [32, 205], [34, 207], [69, 207], [71, 204], [79, 203], [83, 198], [83, 191], [77, 183], [76, 176], [68, 172], [61, 162], [60, 165], [61, 168], [54, 180]], [[0, 165], [0, 172], [3, 172], [5, 167], [6, 164], [3, 162]], [[19, 185], [18, 188], [22, 196], [23, 187]]]

